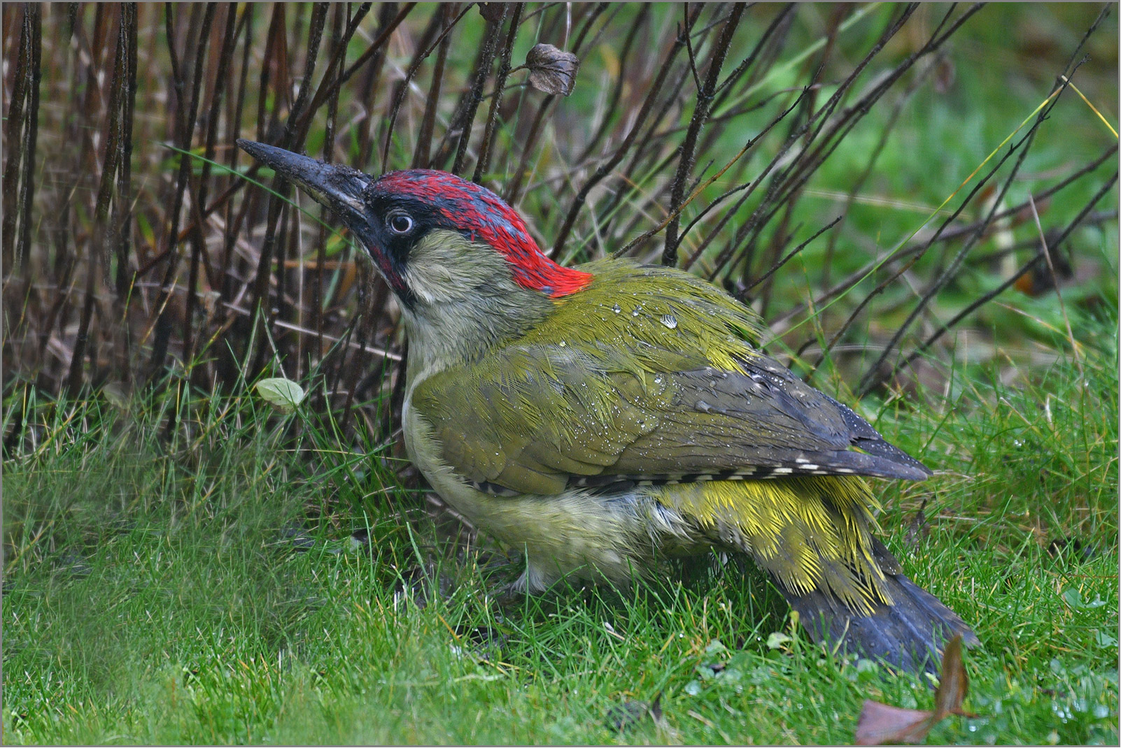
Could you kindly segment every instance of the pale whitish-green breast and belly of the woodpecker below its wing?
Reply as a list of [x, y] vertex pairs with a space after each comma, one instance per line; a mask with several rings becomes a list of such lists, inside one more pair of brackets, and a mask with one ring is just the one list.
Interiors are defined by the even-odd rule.
[[472, 487], [441, 458], [432, 428], [406, 398], [401, 412], [409, 459], [439, 496], [480, 530], [526, 553], [519, 586], [540, 591], [564, 576], [624, 582], [659, 557], [702, 545], [696, 527], [648, 490], [552, 496], [493, 496]]

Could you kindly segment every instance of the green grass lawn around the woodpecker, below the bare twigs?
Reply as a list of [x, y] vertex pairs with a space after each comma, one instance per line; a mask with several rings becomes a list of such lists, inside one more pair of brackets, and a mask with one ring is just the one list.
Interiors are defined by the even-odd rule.
[[[880, 484], [889, 546], [983, 643], [979, 717], [933, 744], [1118, 741], [1117, 320], [1080, 325], [1077, 362], [868, 410], [939, 469]], [[6, 742], [846, 742], [864, 699], [933, 704], [921, 677], [768, 646], [786, 606], [736, 560], [500, 601], [511, 568], [439, 542], [391, 460], [251, 392], [9, 396]], [[660, 724], [611, 726], [659, 693]]]

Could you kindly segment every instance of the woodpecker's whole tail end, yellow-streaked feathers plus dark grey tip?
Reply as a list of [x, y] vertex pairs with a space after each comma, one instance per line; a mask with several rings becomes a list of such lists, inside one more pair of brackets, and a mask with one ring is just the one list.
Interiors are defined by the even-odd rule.
[[828, 646], [934, 671], [944, 639], [976, 636], [902, 574], [872, 531], [876, 499], [855, 476], [682, 484], [664, 504], [687, 512], [717, 545], [749, 553]]

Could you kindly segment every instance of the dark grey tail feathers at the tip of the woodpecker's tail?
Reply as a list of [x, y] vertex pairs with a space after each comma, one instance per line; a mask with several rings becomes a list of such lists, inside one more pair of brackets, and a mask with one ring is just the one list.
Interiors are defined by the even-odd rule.
[[955, 634], [967, 645], [978, 644], [976, 634], [957, 614], [907, 577], [886, 574], [883, 589], [892, 605], [880, 604], [867, 616], [854, 615], [844, 602], [821, 590], [782, 593], [815, 642], [831, 647], [841, 642], [841, 651], [902, 670], [937, 673], [942, 647]]

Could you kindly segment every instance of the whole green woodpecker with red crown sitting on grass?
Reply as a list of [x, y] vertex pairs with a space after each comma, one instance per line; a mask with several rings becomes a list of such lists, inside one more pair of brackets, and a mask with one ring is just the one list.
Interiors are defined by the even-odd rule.
[[752, 311], [671, 268], [563, 268], [497, 195], [444, 171], [373, 178], [239, 140], [331, 208], [400, 305], [409, 458], [525, 551], [518, 589], [752, 557], [818, 641], [907, 668], [976, 637], [872, 534], [861, 476], [921, 464], [756, 347]]

